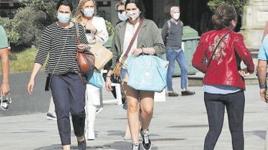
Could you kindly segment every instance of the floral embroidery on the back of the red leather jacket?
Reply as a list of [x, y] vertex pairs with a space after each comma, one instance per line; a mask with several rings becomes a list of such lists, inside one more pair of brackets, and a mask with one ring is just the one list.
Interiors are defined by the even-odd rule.
[[[225, 35], [225, 34], [224, 34]], [[224, 35], [216, 35], [216, 37], [214, 38], [214, 41], [212, 43], [210, 43], [209, 45], [209, 51], [213, 53], [214, 49], [216, 48], [216, 46], [218, 45], [218, 43], [220, 42], [220, 39], [224, 36]], [[226, 56], [226, 52], [224, 51], [228, 42], [228, 38], [229, 35], [226, 35], [224, 37], [224, 39], [220, 42], [215, 54], [212, 57], [212, 60], [216, 60], [219, 64], [221, 64], [223, 62], [223, 58]]]

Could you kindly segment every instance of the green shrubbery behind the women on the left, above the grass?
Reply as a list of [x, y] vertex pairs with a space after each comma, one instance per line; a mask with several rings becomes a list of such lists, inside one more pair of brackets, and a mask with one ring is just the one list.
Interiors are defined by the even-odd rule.
[[[73, 0], [77, 8], [79, 0]], [[39, 47], [44, 29], [57, 21], [55, 1], [20, 0], [23, 7], [15, 12], [13, 19], [0, 18], [0, 25], [7, 31], [10, 42], [15, 45]], [[75, 13], [75, 9], [73, 12]], [[111, 22], [105, 21], [109, 35], [114, 34]]]

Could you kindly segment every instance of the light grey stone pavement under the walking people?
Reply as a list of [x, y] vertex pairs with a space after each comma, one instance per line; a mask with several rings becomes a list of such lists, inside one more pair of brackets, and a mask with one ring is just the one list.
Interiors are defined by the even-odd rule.
[[[174, 85], [179, 79], [174, 78]], [[177, 86], [176, 91], [179, 90]], [[150, 125], [153, 150], [202, 150], [208, 122], [201, 87], [189, 87], [196, 95], [167, 97], [156, 102]], [[110, 95], [104, 92], [106, 98]], [[245, 150], [263, 150], [265, 145], [268, 106], [259, 100], [258, 85], [245, 91]], [[96, 118], [96, 140], [87, 141], [88, 149], [130, 150], [131, 141], [124, 141], [126, 112], [122, 106], [104, 105]], [[46, 114], [0, 117], [0, 150], [56, 150], [60, 139], [55, 121]], [[72, 132], [72, 147], [76, 139]], [[231, 135], [225, 115], [223, 131], [215, 150], [231, 150]]]

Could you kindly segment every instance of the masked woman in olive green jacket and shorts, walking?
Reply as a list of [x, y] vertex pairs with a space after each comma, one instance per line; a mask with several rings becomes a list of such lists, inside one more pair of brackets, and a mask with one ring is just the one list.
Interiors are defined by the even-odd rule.
[[[114, 53], [111, 68], [115, 68], [117, 59], [122, 59], [122, 56], [125, 54], [136, 29], [140, 22], [142, 22], [142, 19], [143, 24], [141, 30], [132, 45], [129, 55], [137, 56], [144, 53], [160, 56], [165, 52], [164, 43], [157, 25], [153, 21], [143, 18], [144, 7], [142, 0], [127, 0], [125, 8], [129, 19], [119, 23], [115, 28], [115, 35], [111, 48], [111, 51]], [[151, 142], [149, 139], [148, 127], [153, 116], [154, 92], [138, 91], [127, 86], [128, 74], [126, 64], [127, 60], [122, 67], [121, 80], [128, 103], [128, 122], [132, 137], [132, 149], [136, 150], [139, 148], [138, 133], [140, 118], [142, 127], [140, 132], [143, 137], [142, 146], [144, 149], [149, 150], [151, 148]], [[112, 74], [113, 71], [110, 70], [106, 78], [106, 89], [108, 92], [111, 92], [110, 77]], [[139, 100], [141, 108], [139, 108]], [[141, 112], [139, 111], [140, 109]]]

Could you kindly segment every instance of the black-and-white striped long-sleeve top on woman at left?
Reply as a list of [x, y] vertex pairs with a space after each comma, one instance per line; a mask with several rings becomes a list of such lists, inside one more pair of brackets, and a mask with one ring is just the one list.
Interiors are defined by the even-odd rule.
[[[79, 73], [76, 65], [78, 45], [76, 27], [73, 26], [69, 28], [68, 36], [67, 32], [68, 29], [62, 28], [56, 22], [52, 23], [45, 29], [40, 48], [34, 62], [44, 65], [48, 56], [48, 63], [45, 68], [46, 74], [52, 74], [54, 69], [54, 74], [56, 75], [62, 75], [71, 70]], [[88, 44], [82, 25], [79, 25], [79, 34], [81, 44]]]

